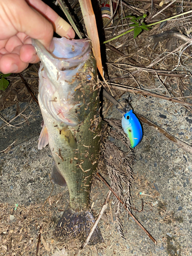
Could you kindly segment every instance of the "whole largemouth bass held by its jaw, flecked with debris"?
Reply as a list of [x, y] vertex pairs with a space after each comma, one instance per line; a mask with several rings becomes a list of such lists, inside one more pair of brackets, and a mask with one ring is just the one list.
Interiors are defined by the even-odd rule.
[[[67, 184], [69, 190], [69, 205], [54, 234], [64, 241], [83, 241], [95, 223], [90, 189], [99, 161], [101, 132], [96, 60], [89, 39], [53, 41], [55, 50], [49, 53], [32, 39], [41, 61], [38, 102], [44, 121], [38, 149], [49, 143], [54, 160], [52, 180]], [[89, 244], [102, 242], [97, 227]]]

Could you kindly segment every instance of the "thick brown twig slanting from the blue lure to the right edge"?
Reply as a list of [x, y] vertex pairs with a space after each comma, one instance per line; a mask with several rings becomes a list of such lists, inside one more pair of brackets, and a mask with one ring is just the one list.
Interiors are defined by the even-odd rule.
[[143, 123], [146, 123], [147, 125], [149, 125], [153, 130], [155, 130], [158, 133], [163, 134], [168, 140], [172, 141], [174, 144], [176, 144], [178, 147], [181, 147], [184, 151], [192, 154], [192, 146], [186, 144], [185, 142], [177, 139], [176, 137], [174, 137], [173, 135], [169, 134], [167, 131], [165, 131], [163, 128], [161, 128], [160, 126], [158, 126], [157, 124], [151, 122], [150, 120], [146, 119], [144, 116], [139, 115], [138, 113], [136, 113], [136, 116], [139, 118], [139, 120]]

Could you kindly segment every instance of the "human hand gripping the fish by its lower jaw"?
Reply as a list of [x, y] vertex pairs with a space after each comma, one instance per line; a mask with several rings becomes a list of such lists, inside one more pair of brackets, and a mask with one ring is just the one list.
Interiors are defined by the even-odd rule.
[[53, 30], [75, 37], [72, 27], [41, 0], [0, 0], [0, 71], [22, 72], [39, 61], [31, 38], [53, 52]]

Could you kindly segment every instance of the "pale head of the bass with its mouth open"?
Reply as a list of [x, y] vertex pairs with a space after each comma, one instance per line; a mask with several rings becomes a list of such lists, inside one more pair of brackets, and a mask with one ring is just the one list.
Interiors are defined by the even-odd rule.
[[76, 95], [80, 87], [79, 73], [92, 79], [87, 60], [91, 55], [88, 39], [53, 38], [55, 49], [49, 53], [42, 44], [32, 39], [41, 61], [39, 69], [39, 98], [48, 113], [58, 122], [76, 126], [82, 120], [77, 115], [82, 100]]

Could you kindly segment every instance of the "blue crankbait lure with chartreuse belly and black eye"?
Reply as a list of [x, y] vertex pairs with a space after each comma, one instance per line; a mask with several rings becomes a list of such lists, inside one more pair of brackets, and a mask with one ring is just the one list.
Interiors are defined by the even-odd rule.
[[130, 139], [131, 147], [137, 146], [143, 137], [143, 132], [141, 123], [133, 113], [133, 110], [130, 110], [123, 115], [121, 124], [123, 131]]

